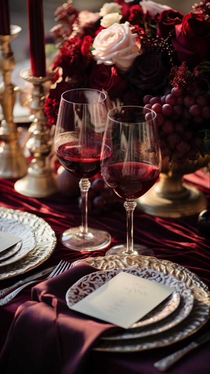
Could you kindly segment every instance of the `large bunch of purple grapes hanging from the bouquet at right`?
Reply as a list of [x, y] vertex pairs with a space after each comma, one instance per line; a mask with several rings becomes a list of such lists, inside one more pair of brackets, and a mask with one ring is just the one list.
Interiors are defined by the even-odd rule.
[[[210, 118], [209, 93], [167, 86], [163, 96], [146, 95], [143, 102], [157, 114], [162, 158], [169, 156], [179, 165], [197, 160], [204, 139], [197, 132]], [[150, 116], [146, 109], [144, 114]]]

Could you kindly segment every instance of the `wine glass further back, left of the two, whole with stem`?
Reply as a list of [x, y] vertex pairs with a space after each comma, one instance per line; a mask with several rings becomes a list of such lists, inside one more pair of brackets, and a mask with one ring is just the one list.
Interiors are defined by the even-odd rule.
[[75, 251], [95, 251], [106, 248], [109, 233], [88, 228], [87, 196], [89, 178], [100, 171], [101, 145], [107, 120], [107, 101], [103, 92], [73, 89], [61, 95], [55, 130], [55, 153], [71, 174], [80, 178], [82, 224], [61, 234], [61, 242]]

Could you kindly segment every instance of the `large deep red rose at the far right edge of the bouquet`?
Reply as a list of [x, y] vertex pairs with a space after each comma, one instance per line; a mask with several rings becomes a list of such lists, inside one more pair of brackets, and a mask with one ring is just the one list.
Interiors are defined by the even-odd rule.
[[209, 22], [203, 14], [189, 13], [182, 24], [175, 26], [176, 39], [172, 39], [177, 58], [188, 65], [197, 65], [209, 53]]

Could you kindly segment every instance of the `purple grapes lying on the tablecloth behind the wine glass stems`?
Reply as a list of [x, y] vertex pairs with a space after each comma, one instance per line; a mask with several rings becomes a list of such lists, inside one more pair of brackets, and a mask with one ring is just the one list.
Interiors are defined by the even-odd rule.
[[[100, 215], [109, 212], [116, 202], [115, 196], [102, 178], [95, 179], [88, 191], [88, 214]], [[79, 209], [81, 203], [82, 199], [79, 197]]]

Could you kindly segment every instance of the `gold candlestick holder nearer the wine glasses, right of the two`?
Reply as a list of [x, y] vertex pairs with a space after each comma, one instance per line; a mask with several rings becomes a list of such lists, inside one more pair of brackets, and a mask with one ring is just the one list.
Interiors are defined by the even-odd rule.
[[46, 126], [47, 117], [44, 111], [44, 84], [52, 79], [54, 73], [45, 77], [33, 77], [30, 69], [23, 69], [20, 76], [27, 82], [33, 83], [31, 109], [33, 121], [28, 129], [30, 137], [26, 144], [34, 157], [28, 168], [28, 174], [15, 183], [15, 190], [25, 196], [46, 197], [57, 191], [57, 184], [52, 175], [52, 169], [47, 165], [46, 157], [52, 148], [52, 132]]

